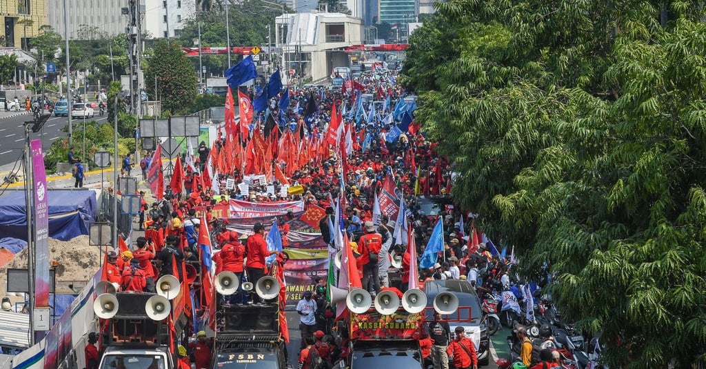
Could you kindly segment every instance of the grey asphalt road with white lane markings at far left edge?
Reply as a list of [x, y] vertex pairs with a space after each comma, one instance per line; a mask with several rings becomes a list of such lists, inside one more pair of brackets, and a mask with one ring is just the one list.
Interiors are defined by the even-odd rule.
[[[0, 167], [12, 165], [20, 159], [25, 134], [23, 124], [32, 120], [32, 115], [25, 112], [5, 112], [0, 110]], [[95, 120], [106, 122], [107, 116], [87, 119], [86, 122]], [[79, 128], [83, 124], [83, 119], [73, 119], [73, 127]], [[46, 152], [54, 141], [68, 136], [67, 132], [61, 131], [68, 124], [68, 117], [54, 117], [44, 124], [42, 130], [36, 134], [30, 134], [31, 139], [42, 139], [42, 147]], [[74, 146], [83, 143], [80, 135], [74, 136]]]

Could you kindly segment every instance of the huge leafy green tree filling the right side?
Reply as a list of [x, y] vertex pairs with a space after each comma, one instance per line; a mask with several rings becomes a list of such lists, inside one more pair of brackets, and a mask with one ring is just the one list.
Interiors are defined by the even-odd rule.
[[404, 82], [491, 237], [611, 367], [705, 363], [706, 25], [683, 1], [436, 3]]

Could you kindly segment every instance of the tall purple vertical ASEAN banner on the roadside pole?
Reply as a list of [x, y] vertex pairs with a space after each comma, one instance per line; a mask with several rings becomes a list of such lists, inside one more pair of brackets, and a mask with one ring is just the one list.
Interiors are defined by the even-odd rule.
[[35, 189], [35, 307], [49, 307], [49, 201], [42, 141], [30, 142]]

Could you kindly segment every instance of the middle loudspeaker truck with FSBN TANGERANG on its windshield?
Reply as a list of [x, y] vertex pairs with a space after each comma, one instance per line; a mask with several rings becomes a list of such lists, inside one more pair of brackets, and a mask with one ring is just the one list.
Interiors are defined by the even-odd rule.
[[287, 346], [280, 332], [280, 319], [286, 320], [285, 301], [280, 300], [282, 286], [277, 279], [263, 276], [251, 283], [222, 271], [214, 285], [214, 368], [288, 368]]

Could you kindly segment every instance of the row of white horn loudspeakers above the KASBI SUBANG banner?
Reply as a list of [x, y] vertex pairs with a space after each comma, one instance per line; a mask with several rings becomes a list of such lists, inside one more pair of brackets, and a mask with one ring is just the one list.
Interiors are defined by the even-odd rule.
[[[367, 312], [374, 306], [381, 315], [391, 315], [400, 309], [400, 303], [406, 312], [416, 314], [424, 311], [427, 303], [426, 294], [417, 288], [405, 292], [402, 299], [393, 291], [383, 291], [375, 296], [375, 300], [362, 288], [355, 288], [350, 292], [335, 286], [331, 288], [332, 303], [345, 300], [348, 310], [355, 314]], [[440, 314], [453, 314], [458, 308], [458, 298], [450, 292], [439, 293], [433, 300], [433, 307]]]

